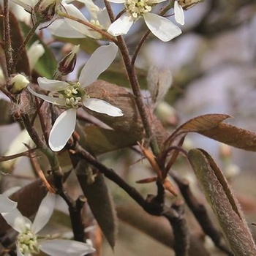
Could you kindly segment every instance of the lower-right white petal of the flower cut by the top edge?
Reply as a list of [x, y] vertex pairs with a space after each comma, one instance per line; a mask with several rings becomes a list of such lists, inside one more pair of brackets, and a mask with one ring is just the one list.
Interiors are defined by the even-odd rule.
[[170, 41], [181, 34], [181, 29], [167, 18], [154, 13], [146, 13], [143, 16], [148, 29], [163, 42]]

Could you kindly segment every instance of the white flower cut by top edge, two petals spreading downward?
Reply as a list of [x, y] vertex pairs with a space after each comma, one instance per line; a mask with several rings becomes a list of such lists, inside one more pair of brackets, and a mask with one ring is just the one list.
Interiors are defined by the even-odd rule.
[[127, 34], [132, 24], [138, 18], [144, 18], [148, 29], [163, 42], [170, 41], [181, 34], [181, 29], [167, 18], [151, 13], [152, 7], [166, 0], [108, 0], [113, 3], [124, 4], [127, 10], [109, 27], [108, 32], [113, 36]]

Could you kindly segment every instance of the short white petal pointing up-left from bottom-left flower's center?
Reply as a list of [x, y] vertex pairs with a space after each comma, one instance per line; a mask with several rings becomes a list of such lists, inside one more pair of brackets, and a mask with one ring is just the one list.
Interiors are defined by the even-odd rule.
[[5, 221], [18, 233], [22, 233], [27, 227], [31, 227], [31, 221], [24, 217], [18, 208], [14, 208], [7, 214], [1, 214]]

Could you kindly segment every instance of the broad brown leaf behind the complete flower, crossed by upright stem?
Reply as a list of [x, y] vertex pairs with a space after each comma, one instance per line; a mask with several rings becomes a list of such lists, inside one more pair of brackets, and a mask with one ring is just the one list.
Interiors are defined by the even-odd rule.
[[[104, 114], [102, 115], [90, 111], [92, 116], [95, 116], [100, 121], [108, 124], [108, 126], [115, 129], [117, 132], [129, 133], [132, 141], [140, 141], [143, 138], [143, 124], [135, 104], [135, 99], [126, 89], [113, 83], [97, 80], [96, 82], [91, 83], [90, 86], [87, 86], [86, 91], [90, 97], [103, 99], [111, 105], [120, 108], [124, 113], [124, 116], [112, 118]], [[147, 111], [157, 141], [161, 144], [167, 138], [168, 134], [156, 116], [154, 116], [150, 110]]]

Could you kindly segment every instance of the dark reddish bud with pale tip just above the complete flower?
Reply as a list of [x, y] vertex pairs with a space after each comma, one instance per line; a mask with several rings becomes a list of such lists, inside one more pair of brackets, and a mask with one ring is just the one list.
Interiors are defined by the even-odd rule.
[[59, 61], [56, 75], [67, 75], [71, 73], [77, 61], [77, 53], [80, 45], [75, 45], [72, 50], [65, 56], [61, 61]]

